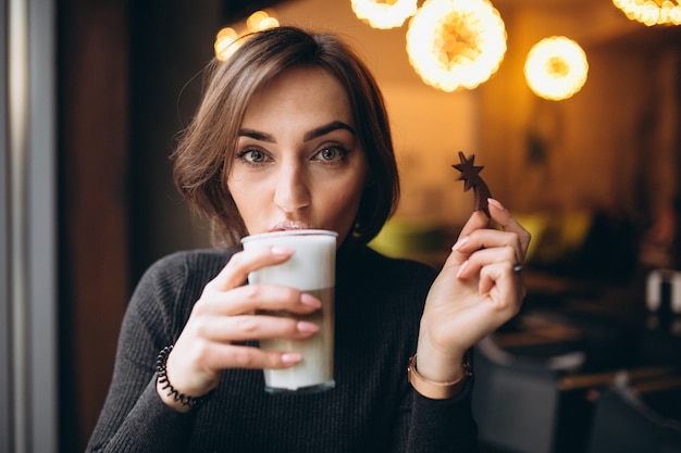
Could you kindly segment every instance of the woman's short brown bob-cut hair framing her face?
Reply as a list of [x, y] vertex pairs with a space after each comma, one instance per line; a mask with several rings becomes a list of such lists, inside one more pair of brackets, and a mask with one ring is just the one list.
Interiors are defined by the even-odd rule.
[[247, 37], [226, 62], [211, 62], [201, 104], [172, 156], [177, 189], [195, 211], [211, 219], [215, 239], [228, 246], [238, 244], [247, 234], [227, 189], [244, 112], [253, 92], [297, 65], [321, 67], [338, 79], [367, 155], [369, 183], [348, 240], [368, 243], [397, 206], [399, 180], [387, 113], [367, 66], [332, 35], [271, 28]]

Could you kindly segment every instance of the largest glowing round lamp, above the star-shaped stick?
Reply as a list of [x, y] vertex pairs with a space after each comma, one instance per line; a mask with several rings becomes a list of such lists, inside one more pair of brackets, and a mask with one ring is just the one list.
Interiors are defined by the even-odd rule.
[[409, 23], [407, 53], [425, 84], [473, 89], [504, 59], [504, 21], [487, 0], [426, 0]]

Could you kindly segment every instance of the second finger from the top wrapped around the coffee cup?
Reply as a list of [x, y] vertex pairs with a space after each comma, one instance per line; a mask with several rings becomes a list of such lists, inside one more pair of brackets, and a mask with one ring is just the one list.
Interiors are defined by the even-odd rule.
[[307, 314], [322, 302], [304, 291], [280, 285], [245, 285], [230, 291], [205, 294], [194, 307], [195, 315], [236, 316], [258, 310]]

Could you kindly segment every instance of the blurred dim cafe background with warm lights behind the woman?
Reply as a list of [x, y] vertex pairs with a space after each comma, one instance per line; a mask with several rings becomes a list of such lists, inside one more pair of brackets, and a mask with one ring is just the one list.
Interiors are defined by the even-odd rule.
[[[371, 247], [443, 265], [475, 207], [459, 153], [532, 234], [521, 312], [473, 351], [482, 451], [681, 452], [677, 0], [47, 3], [55, 383], [51, 415], [5, 400], [8, 451], [85, 448], [136, 281], [211, 244], [168, 159], [202, 67], [249, 30], [300, 25], [344, 36], [385, 96], [403, 193]], [[21, 376], [12, 348], [0, 358]], [[32, 450], [41, 426], [49, 446]]]

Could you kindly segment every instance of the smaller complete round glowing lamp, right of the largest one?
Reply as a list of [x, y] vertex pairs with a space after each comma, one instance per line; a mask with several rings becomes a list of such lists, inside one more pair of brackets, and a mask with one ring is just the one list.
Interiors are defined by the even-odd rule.
[[586, 54], [565, 36], [552, 36], [534, 45], [524, 66], [532, 91], [552, 101], [570, 98], [582, 89], [587, 72]]

